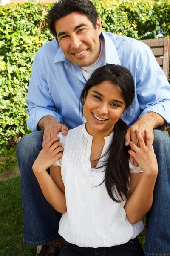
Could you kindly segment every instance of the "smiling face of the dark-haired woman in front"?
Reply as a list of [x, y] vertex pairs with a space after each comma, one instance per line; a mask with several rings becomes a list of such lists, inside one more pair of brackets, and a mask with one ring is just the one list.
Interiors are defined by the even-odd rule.
[[102, 132], [105, 136], [110, 135], [124, 109], [125, 100], [117, 84], [103, 81], [92, 87], [83, 108], [88, 133], [93, 135], [94, 132]]

